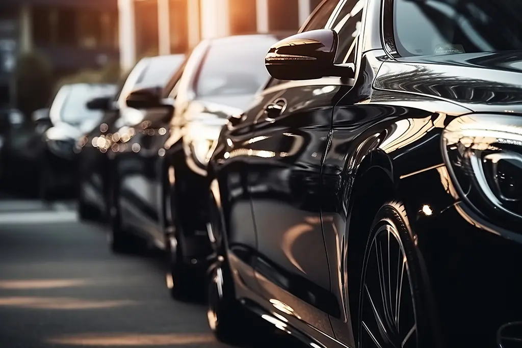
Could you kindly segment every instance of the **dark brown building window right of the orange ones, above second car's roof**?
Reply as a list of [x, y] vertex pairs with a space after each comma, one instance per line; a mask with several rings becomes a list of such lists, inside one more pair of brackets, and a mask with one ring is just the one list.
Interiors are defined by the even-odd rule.
[[268, 28], [270, 31], [297, 31], [300, 24], [298, 0], [268, 0]]

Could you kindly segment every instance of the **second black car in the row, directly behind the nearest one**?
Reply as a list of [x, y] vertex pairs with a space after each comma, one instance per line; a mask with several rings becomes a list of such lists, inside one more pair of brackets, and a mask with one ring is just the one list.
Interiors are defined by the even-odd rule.
[[[208, 156], [227, 118], [241, 114], [266, 85], [263, 58], [281, 38], [253, 34], [204, 40], [182, 74], [172, 78], [163, 100], [150, 89], [127, 98], [128, 106], [148, 108], [149, 116], [118, 134], [120, 141], [111, 149], [117, 173], [111, 246], [133, 249], [137, 233], [166, 249], [167, 281], [176, 298], [193, 292], [192, 280], [205, 274], [212, 251], [205, 215]], [[247, 50], [235, 51], [246, 45]]]

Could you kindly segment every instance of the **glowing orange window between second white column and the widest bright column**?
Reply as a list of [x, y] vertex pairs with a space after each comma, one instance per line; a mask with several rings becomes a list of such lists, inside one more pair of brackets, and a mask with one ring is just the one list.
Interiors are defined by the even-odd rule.
[[188, 50], [187, 1], [194, 0], [169, 0], [171, 53], [184, 53]]

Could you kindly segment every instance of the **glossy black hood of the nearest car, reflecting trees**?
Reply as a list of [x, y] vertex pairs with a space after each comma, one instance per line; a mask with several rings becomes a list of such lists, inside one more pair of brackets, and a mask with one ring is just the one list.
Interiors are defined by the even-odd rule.
[[374, 87], [443, 98], [476, 112], [522, 113], [522, 52], [400, 58], [383, 63]]

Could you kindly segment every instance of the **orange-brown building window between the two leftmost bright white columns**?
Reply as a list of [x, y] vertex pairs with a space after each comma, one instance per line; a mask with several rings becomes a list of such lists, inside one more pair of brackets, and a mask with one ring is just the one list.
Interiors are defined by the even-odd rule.
[[158, 0], [134, 2], [137, 57], [159, 53]]

